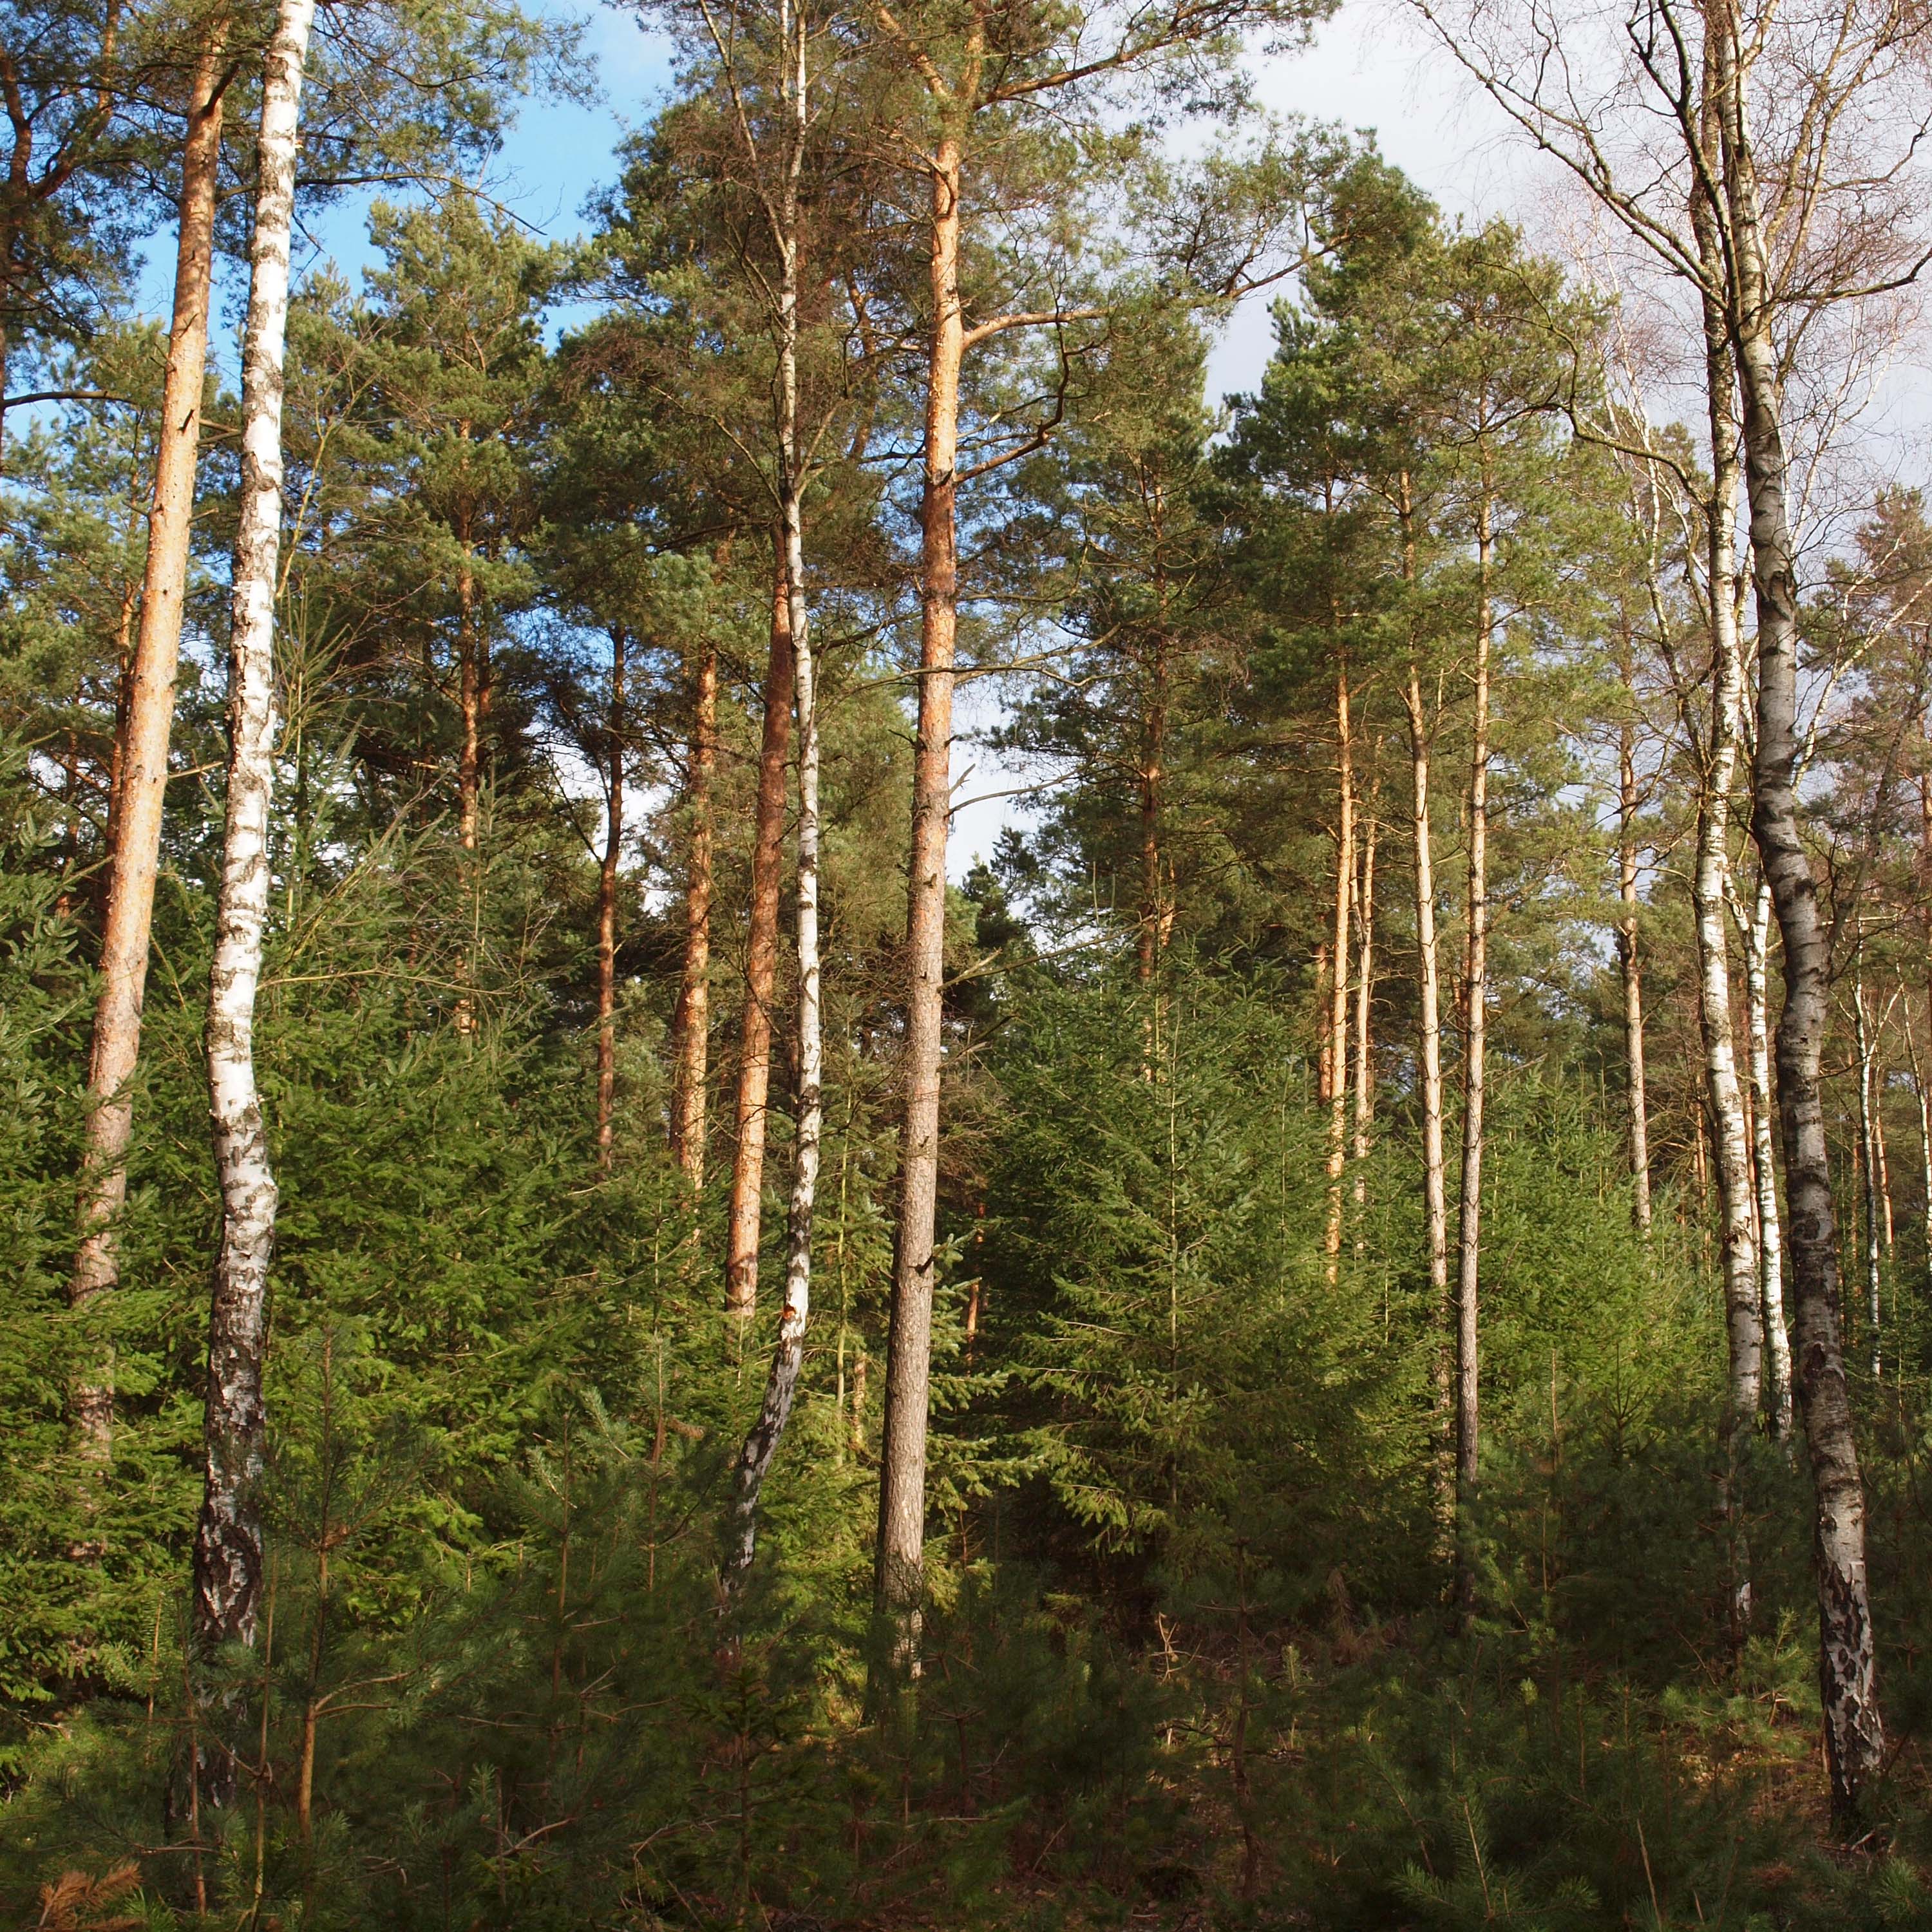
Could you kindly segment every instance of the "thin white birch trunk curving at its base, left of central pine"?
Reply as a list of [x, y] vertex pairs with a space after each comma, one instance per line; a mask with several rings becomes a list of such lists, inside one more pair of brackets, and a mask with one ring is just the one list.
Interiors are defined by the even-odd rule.
[[784, 1314], [765, 1379], [757, 1422], [738, 1453], [734, 1542], [726, 1559], [732, 1580], [752, 1567], [757, 1540], [757, 1497], [779, 1439], [792, 1414], [798, 1372], [806, 1360], [806, 1320], [811, 1310], [811, 1219], [817, 1206], [819, 1138], [823, 1128], [823, 1043], [819, 1030], [819, 717], [806, 611], [806, 549], [798, 452], [798, 174], [806, 145], [806, 25], [790, 0], [781, 0], [781, 41], [786, 52], [786, 106], [792, 110], [788, 166], [781, 191], [779, 249], [779, 535], [784, 547], [786, 611], [792, 638], [792, 692], [798, 705], [798, 1132], [794, 1140], [792, 1204], [784, 1240]]

